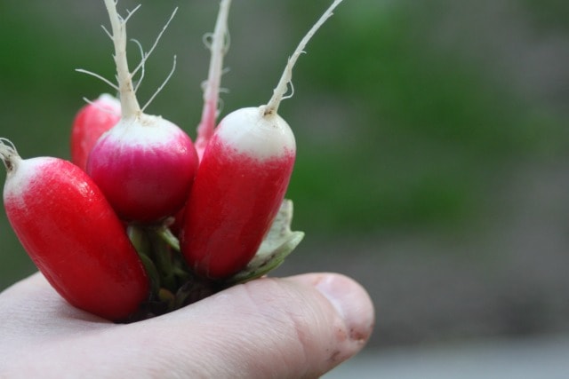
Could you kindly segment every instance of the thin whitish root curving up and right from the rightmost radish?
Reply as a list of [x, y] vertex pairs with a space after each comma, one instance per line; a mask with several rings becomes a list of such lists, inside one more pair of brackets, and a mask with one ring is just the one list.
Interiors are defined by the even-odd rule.
[[304, 52], [304, 48], [306, 47], [307, 43], [309, 43], [310, 38], [312, 38], [312, 36], [314, 36], [317, 32], [318, 28], [320, 28], [325, 23], [325, 21], [333, 15], [334, 8], [336, 8], [336, 6], [338, 6], [338, 4], [341, 2], [342, 0], [334, 0], [333, 4], [330, 5], [324, 14], [320, 16], [320, 19], [317, 20], [317, 23], [314, 24], [312, 28], [310, 28], [309, 33], [307, 33], [307, 35], [302, 38], [301, 43], [299, 43], [296, 50], [293, 52], [293, 55], [288, 59], [286, 67], [284, 67], [283, 75], [281, 76], [278, 84], [276, 84], [275, 90], [273, 90], [273, 96], [270, 98], [270, 100], [268, 100], [267, 105], [263, 108], [264, 117], [271, 117], [272, 115], [276, 114], [281, 101], [290, 97], [284, 97], [284, 94], [286, 91], [288, 91], [289, 84], [292, 84], [293, 67], [296, 63], [296, 60], [299, 59], [301, 53]]

